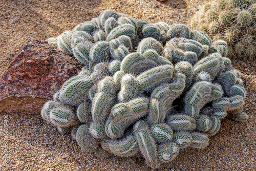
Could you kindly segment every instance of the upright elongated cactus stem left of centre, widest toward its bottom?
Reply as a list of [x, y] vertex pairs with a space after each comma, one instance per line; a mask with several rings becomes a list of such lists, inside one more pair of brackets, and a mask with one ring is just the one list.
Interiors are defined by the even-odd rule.
[[110, 76], [102, 79], [98, 84], [98, 93], [93, 98], [92, 116], [94, 122], [105, 122], [112, 106], [116, 101], [116, 88], [114, 79]]

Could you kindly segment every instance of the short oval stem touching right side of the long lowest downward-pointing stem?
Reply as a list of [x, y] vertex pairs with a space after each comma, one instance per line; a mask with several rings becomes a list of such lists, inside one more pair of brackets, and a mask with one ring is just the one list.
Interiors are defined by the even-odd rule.
[[153, 137], [158, 142], [170, 142], [173, 139], [173, 130], [165, 123], [155, 124], [151, 127]]

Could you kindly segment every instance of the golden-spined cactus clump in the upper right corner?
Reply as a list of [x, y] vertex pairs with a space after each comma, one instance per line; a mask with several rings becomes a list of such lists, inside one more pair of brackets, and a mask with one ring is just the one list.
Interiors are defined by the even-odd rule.
[[194, 15], [190, 26], [205, 31], [214, 40], [225, 40], [229, 46], [226, 52], [229, 58], [245, 60], [256, 58], [255, 0], [209, 2]]

